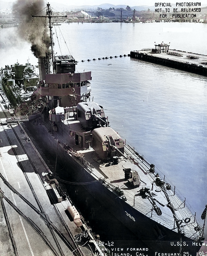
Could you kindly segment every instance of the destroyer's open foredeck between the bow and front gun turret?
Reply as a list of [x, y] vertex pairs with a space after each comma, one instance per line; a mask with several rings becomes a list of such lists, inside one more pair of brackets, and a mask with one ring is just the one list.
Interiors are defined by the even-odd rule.
[[[105, 178], [105, 182], [109, 184], [112, 190], [114, 190], [116, 187], [119, 187], [121, 190], [124, 191], [124, 196], [127, 199], [127, 203], [131, 205], [132, 207], [139, 210], [142, 214], [148, 216], [149, 218], [154, 219], [158, 223], [161, 223], [163, 226], [166, 226], [167, 228], [173, 230], [177, 229], [175, 219], [173, 217], [173, 214], [170, 210], [168, 205], [167, 198], [164, 194], [164, 192], [160, 189], [158, 184], [155, 182], [156, 176], [155, 174], [149, 173], [144, 168], [141, 168], [141, 166], [138, 166], [134, 164], [134, 162], [131, 161], [131, 159], [125, 159], [124, 157], [119, 157], [118, 164], [114, 163], [97, 163], [93, 157], [94, 152], [92, 150], [80, 150], [78, 151], [82, 154], [84, 154], [84, 158], [88, 163], [92, 165], [93, 173], [100, 177], [100, 174]], [[140, 177], [140, 186], [138, 187], [131, 187], [128, 181], [125, 180], [125, 174], [123, 169], [124, 168], [131, 168], [131, 170], [135, 170], [138, 172]], [[152, 210], [154, 207], [152, 206], [151, 200], [149, 197], [143, 198], [140, 195], [140, 189], [143, 187], [149, 187], [150, 193], [152, 195], [153, 199], [156, 199], [154, 201], [156, 203], [156, 206], [160, 208], [162, 215], [157, 215], [157, 213]], [[171, 202], [174, 203], [176, 207], [176, 215], [178, 220], [183, 220], [187, 217], [190, 217], [191, 221], [193, 222], [194, 216], [190, 214], [188, 209], [184, 206], [184, 201], [180, 201], [179, 198], [177, 198], [177, 195], [174, 195], [174, 188], [171, 190], [166, 190], [167, 195], [170, 197]], [[185, 226], [185, 233], [186, 235], [191, 234], [191, 225]]]

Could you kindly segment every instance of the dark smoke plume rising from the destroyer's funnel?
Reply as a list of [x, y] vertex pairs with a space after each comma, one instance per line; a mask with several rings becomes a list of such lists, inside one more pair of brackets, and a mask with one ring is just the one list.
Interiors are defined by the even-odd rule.
[[37, 58], [50, 53], [49, 28], [46, 18], [32, 18], [32, 15], [45, 16], [46, 9], [44, 0], [17, 0], [13, 4], [14, 15], [21, 24], [18, 36], [31, 43], [31, 50]]

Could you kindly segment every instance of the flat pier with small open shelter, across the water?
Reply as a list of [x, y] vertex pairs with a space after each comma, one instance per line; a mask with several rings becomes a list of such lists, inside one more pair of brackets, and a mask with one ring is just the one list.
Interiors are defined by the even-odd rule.
[[169, 49], [169, 44], [155, 44], [153, 49], [130, 52], [130, 57], [207, 76], [207, 56]]

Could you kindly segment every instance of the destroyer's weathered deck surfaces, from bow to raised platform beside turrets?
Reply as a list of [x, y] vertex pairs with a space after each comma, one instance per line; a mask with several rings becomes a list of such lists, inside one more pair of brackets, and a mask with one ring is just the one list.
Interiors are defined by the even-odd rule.
[[[67, 124], [71, 130], [77, 130], [79, 133], [83, 131], [81, 124], [72, 118], [69, 120], [62, 121]], [[155, 173], [149, 172], [150, 164], [147, 163], [143, 158], [137, 156], [136, 152], [132, 150], [129, 146], [125, 145], [125, 156], [118, 158], [118, 164], [114, 164], [111, 160], [101, 161], [100, 163], [96, 160], [95, 151], [90, 147], [88, 149], [80, 148], [75, 145], [75, 139], [72, 136], [68, 137], [68, 145], [73, 149], [76, 156], [79, 156], [81, 163], [85, 163], [85, 166], [89, 167], [89, 172], [96, 178], [102, 178], [105, 180], [106, 186], [108, 186], [111, 191], [116, 193], [116, 188], [120, 188], [124, 192], [126, 197], [126, 203], [140, 211], [143, 215], [155, 220], [161, 225], [171, 229], [177, 230], [176, 219], [182, 221], [180, 229], [185, 229], [185, 234], [191, 238], [197, 238], [198, 234], [194, 234], [194, 228], [197, 226], [195, 221], [195, 216], [191, 213], [188, 207], [186, 207], [185, 199], [181, 199], [177, 193], [174, 191], [174, 186], [171, 185], [171, 189], [166, 188], [161, 189], [160, 186], [155, 182], [157, 176]], [[87, 164], [86, 164], [87, 163]], [[123, 169], [130, 168], [135, 170], [139, 174], [140, 186], [131, 187], [129, 182], [125, 180], [125, 172]], [[160, 176], [160, 174], [159, 174]], [[163, 178], [160, 176], [163, 180]], [[165, 180], [166, 183], [169, 183]], [[150, 190], [150, 195], [144, 198], [140, 195], [140, 189], [143, 187], [148, 187]], [[174, 212], [172, 208], [169, 207], [173, 205]], [[158, 215], [154, 207], [160, 208], [162, 214]], [[184, 220], [187, 221], [185, 222]], [[188, 219], [189, 218], [189, 219]]]

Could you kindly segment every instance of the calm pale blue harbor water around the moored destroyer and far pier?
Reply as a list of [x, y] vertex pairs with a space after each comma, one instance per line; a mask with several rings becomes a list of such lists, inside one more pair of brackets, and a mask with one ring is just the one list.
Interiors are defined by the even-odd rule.
[[[186, 197], [198, 219], [207, 203], [207, 77], [119, 55], [162, 41], [171, 49], [207, 55], [206, 30], [203, 23], [53, 26], [55, 53], [71, 54], [79, 72], [92, 71], [91, 100]], [[17, 61], [38, 65], [27, 38], [17, 35], [18, 27], [0, 29], [0, 67]]]

